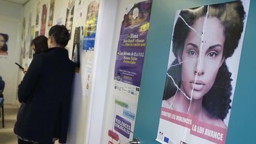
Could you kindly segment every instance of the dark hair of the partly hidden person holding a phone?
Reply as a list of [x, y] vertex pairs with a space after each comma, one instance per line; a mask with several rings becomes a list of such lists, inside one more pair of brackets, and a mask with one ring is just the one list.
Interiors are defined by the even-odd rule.
[[31, 41], [30, 46], [32, 46], [34, 44], [35, 46], [35, 53], [34, 55], [37, 55], [41, 52], [43, 52], [44, 50], [48, 49], [48, 44], [47, 44], [47, 37], [45, 36], [38, 36], [35, 39], [33, 39]]

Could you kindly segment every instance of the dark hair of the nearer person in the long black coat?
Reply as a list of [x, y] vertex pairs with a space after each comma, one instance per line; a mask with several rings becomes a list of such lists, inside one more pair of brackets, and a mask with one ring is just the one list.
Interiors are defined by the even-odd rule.
[[53, 37], [57, 44], [65, 47], [69, 41], [69, 31], [64, 25], [54, 25], [49, 30], [49, 36]]

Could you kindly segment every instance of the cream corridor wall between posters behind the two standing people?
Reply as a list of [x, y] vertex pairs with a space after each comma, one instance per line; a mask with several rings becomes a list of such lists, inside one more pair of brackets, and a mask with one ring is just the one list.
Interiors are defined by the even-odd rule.
[[[53, 14], [53, 25], [57, 22], [57, 18], [62, 17], [62, 24], [65, 25], [66, 20], [66, 8], [68, 5], [69, 0], [55, 0], [55, 9]], [[73, 15], [73, 25], [72, 25], [72, 34], [71, 40], [69, 41], [66, 49], [69, 51], [69, 57], [72, 56], [72, 47], [73, 47], [73, 38], [75, 33], [75, 27], [78, 26], [85, 26], [87, 8], [89, 2], [92, 0], [82, 0], [83, 6], [82, 9], [82, 17], [77, 17], [76, 8], [78, 8], [78, 0], [75, 0], [75, 11]], [[28, 30], [28, 17], [31, 14], [31, 26], [36, 25], [36, 11], [37, 11], [37, 4], [40, 2], [40, 14], [39, 14], [39, 26], [35, 27], [35, 31], [40, 32], [41, 27], [41, 9], [42, 5], [47, 5], [47, 18], [46, 18], [46, 32], [45, 36], [48, 36], [48, 31], [50, 27], [48, 27], [48, 18], [49, 18], [49, 10], [50, 10], [50, 0], [30, 0], [27, 4], [24, 5], [24, 17], [26, 21], [25, 31]], [[100, 18], [98, 18], [98, 23], [100, 23]], [[100, 27], [97, 27], [97, 33]], [[27, 32], [26, 32], [27, 33]], [[26, 36], [27, 37], [27, 36]], [[97, 40], [96, 40], [97, 43]], [[28, 51], [28, 47], [26, 47]], [[71, 123], [69, 126], [68, 131], [68, 139], [67, 143], [69, 144], [76, 144], [76, 143], [85, 143], [86, 140], [86, 133], [87, 133], [87, 126], [88, 126], [88, 117], [89, 117], [89, 103], [91, 99], [91, 88], [92, 88], [92, 81], [94, 81], [94, 65], [95, 65], [95, 55], [97, 55], [98, 47], [95, 46], [95, 52], [82, 52], [80, 51], [80, 59], [81, 59], [81, 68], [80, 72], [76, 73], [73, 85], [73, 98], [72, 98], [72, 112], [71, 112]], [[25, 59], [22, 59], [23, 66], [29, 65], [31, 59], [28, 56]], [[92, 62], [92, 78], [89, 81], [89, 91], [85, 91], [87, 84], [85, 84], [85, 80], [87, 79], [87, 68], [88, 63]], [[20, 77], [22, 78], [23, 75], [21, 74]]]

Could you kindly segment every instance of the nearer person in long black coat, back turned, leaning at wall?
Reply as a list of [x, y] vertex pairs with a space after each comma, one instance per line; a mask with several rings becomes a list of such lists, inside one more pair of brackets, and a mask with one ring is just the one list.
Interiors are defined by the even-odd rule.
[[49, 49], [34, 56], [18, 86], [21, 107], [14, 133], [18, 144], [66, 143], [75, 63], [68, 57], [69, 33], [64, 25], [49, 30]]

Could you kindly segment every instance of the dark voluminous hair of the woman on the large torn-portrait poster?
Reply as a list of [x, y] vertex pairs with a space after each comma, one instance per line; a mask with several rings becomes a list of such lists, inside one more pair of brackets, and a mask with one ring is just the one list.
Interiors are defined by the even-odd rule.
[[[175, 24], [172, 37], [172, 52], [176, 57], [182, 56], [184, 42], [190, 32], [190, 28], [186, 23], [191, 26], [198, 18], [204, 17], [206, 14], [207, 5], [198, 8], [184, 9], [180, 12], [180, 17]], [[218, 18], [223, 26], [223, 34], [225, 35], [223, 58], [226, 60], [226, 58], [233, 55], [244, 28], [245, 11], [242, 2], [234, 1], [225, 4], [209, 5], [208, 17]], [[177, 64], [178, 60], [175, 59], [172, 65]], [[171, 66], [167, 73], [172, 76], [175, 84], [180, 87], [181, 65]], [[168, 75], [165, 82], [164, 100], [172, 97], [177, 91], [177, 87]], [[225, 119], [231, 108], [231, 81], [231, 72], [229, 72], [226, 62], [223, 62], [222, 66], [219, 68], [213, 87], [203, 97], [203, 107], [206, 108], [210, 116], [216, 119]]]

